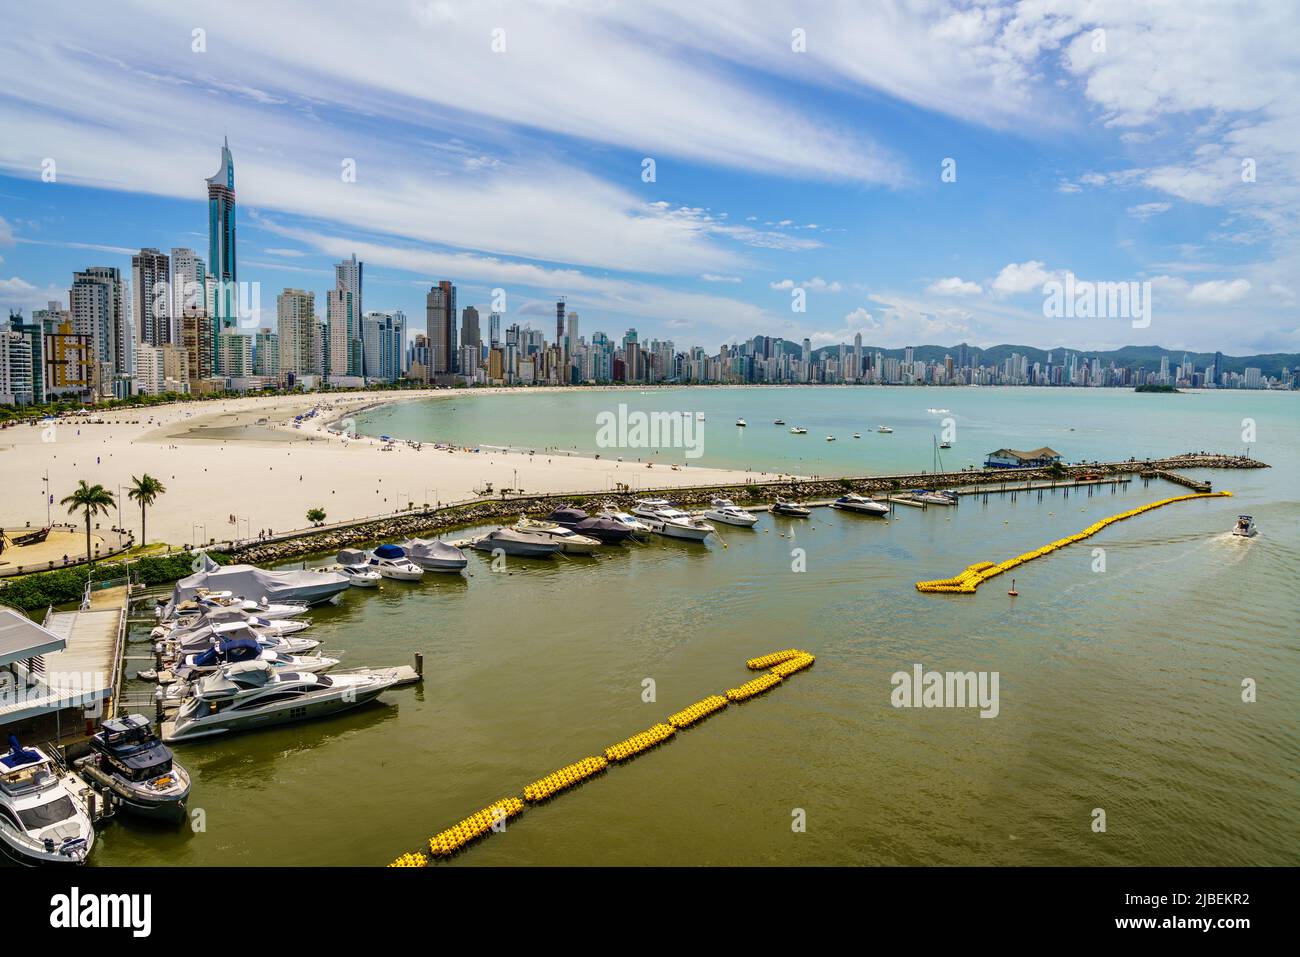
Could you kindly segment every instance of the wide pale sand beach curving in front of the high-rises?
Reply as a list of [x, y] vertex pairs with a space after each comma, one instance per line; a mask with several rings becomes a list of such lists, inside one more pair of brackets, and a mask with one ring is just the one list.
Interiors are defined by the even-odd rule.
[[[526, 493], [604, 492], [619, 482], [633, 489], [740, 484], [760, 477], [697, 467], [647, 469], [634, 462], [578, 456], [448, 451], [430, 443], [384, 450], [380, 439], [348, 441], [326, 430], [335, 419], [385, 402], [494, 391], [256, 397], [110, 411], [101, 413], [100, 424], [65, 419], [52, 428], [10, 426], [0, 430], [0, 528], [46, 524], [47, 473], [56, 523], [78, 520], [68, 518], [58, 499], [84, 478], [121, 497], [122, 524], [139, 538], [139, 507], [125, 495], [131, 477], [148, 472], [166, 486], [148, 510], [148, 541], [170, 545], [303, 528], [311, 507], [324, 508], [333, 524], [391, 515], [412, 501], [460, 502], [477, 498], [485, 482], [510, 488], [516, 472]], [[321, 412], [292, 428], [292, 417], [313, 407]], [[116, 524], [117, 511], [101, 521]]]

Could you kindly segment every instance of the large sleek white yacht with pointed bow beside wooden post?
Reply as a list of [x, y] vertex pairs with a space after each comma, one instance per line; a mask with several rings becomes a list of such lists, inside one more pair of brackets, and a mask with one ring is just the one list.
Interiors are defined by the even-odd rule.
[[190, 741], [324, 718], [373, 701], [396, 681], [390, 671], [321, 675], [278, 671], [263, 661], [226, 664], [191, 687], [176, 720], [162, 724], [162, 740]]

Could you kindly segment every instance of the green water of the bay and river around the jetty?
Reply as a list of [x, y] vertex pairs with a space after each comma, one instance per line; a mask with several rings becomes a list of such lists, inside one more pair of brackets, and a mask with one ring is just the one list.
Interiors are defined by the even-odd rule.
[[[1297, 399], [734, 389], [458, 397], [370, 413], [365, 432], [590, 449], [595, 412], [659, 402], [706, 412], [702, 464], [822, 473], [927, 468], [942, 417], [930, 407], [958, 423], [949, 467], [1004, 445], [1046, 443], [1069, 459], [1238, 451], [1252, 417], [1252, 454], [1274, 468], [1208, 473], [1236, 495], [1157, 510], [1022, 566], [1014, 602], [1006, 579], [975, 596], [923, 596], [913, 583], [1184, 490], [1134, 481], [1091, 497], [900, 508], [888, 521], [764, 515], [753, 531], [724, 527], [725, 547], [654, 541], [499, 573], [474, 553], [464, 580], [354, 590], [315, 615], [316, 637], [346, 664], [421, 650], [422, 689], [178, 748], [207, 830], [117, 822], [94, 863], [385, 863], [789, 646], [816, 664], [530, 807], [452, 866], [1300, 863]], [[737, 415], [750, 421], [742, 436]], [[809, 428], [806, 464], [792, 464], [798, 439], [771, 425], [777, 416]], [[897, 432], [868, 433], [878, 423]], [[1254, 515], [1256, 538], [1228, 534], [1239, 511]], [[794, 547], [805, 572], [792, 571]], [[1092, 571], [1095, 547], [1105, 572]], [[890, 675], [914, 663], [997, 671], [998, 716], [892, 707]], [[654, 703], [642, 701], [647, 677]], [[1242, 701], [1247, 677], [1256, 703]], [[1105, 833], [1091, 828], [1097, 807]], [[792, 832], [796, 809], [803, 833]]]

